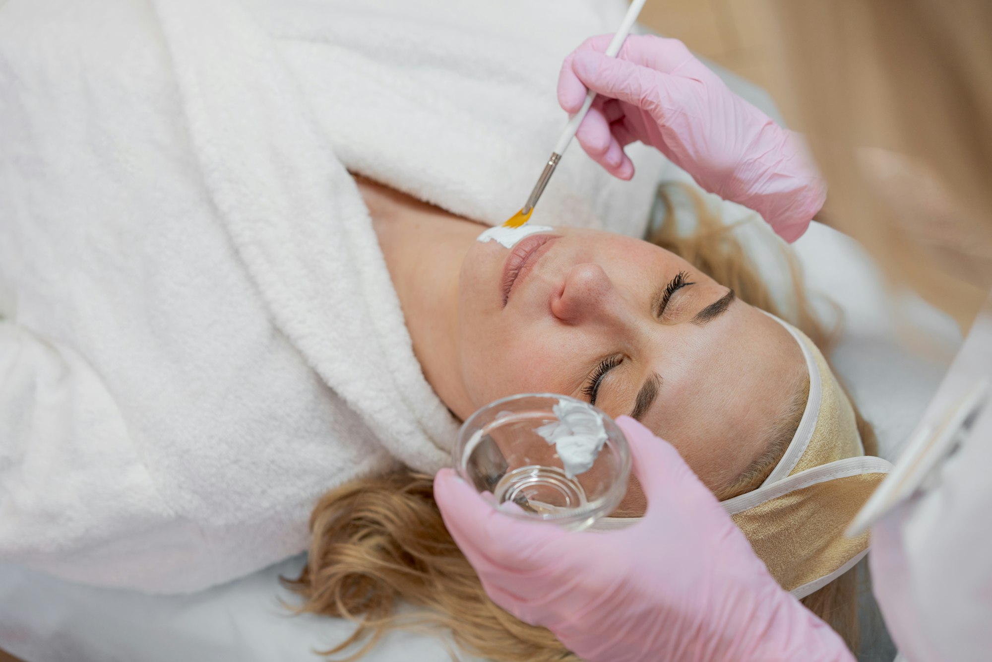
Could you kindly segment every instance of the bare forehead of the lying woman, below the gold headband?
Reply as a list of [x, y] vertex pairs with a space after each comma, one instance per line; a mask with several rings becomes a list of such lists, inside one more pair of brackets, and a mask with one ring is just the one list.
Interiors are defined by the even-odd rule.
[[[806, 362], [782, 325], [742, 302], [654, 360], [664, 385], [645, 424], [710, 487], [768, 448], [768, 431], [803, 384]], [[688, 334], [687, 334], [688, 335]]]

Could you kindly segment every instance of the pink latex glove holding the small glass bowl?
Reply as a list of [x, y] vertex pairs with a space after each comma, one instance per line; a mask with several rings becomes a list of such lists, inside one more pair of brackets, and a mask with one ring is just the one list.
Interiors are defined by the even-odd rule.
[[617, 423], [648, 497], [638, 524], [568, 532], [500, 514], [451, 469], [434, 498], [486, 593], [590, 662], [853, 660], [768, 574], [744, 534], [667, 442]]

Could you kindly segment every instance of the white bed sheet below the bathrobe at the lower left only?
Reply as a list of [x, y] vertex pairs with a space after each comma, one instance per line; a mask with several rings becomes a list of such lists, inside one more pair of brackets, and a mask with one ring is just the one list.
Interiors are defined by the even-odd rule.
[[[189, 596], [148, 596], [0, 568], [0, 647], [28, 662], [318, 662], [314, 651], [342, 641], [346, 621], [291, 616], [304, 557]], [[447, 660], [434, 637], [396, 632], [366, 658]], [[475, 658], [462, 657], [463, 660]]]

